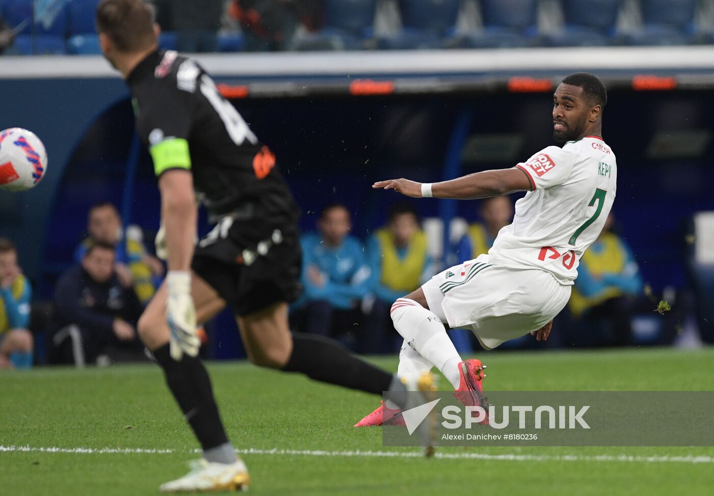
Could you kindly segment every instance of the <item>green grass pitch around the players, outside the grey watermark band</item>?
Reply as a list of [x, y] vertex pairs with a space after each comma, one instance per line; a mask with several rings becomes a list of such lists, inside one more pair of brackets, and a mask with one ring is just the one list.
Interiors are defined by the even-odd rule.
[[[479, 358], [487, 391], [713, 388], [714, 349]], [[396, 358], [375, 361], [396, 368]], [[713, 494], [714, 447], [451, 447], [438, 452], [481, 458], [425, 460], [403, 455], [415, 448], [382, 447], [379, 428], [352, 427], [378, 398], [248, 363], [208, 368], [229, 437], [240, 450], [258, 450], [243, 455], [254, 495]], [[156, 365], [0, 373], [0, 446], [0, 495], [23, 496], [154, 495], [186, 472], [198, 447]], [[94, 450], [39, 451], [50, 447]], [[688, 455], [703, 461], [663, 461]]]

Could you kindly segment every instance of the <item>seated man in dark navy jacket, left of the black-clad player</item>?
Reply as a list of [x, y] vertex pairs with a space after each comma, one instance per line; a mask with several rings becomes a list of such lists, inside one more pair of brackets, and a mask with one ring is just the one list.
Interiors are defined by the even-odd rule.
[[94, 363], [112, 346], [141, 355], [136, 322], [143, 310], [134, 289], [115, 270], [114, 245], [94, 241], [81, 265], [67, 270], [54, 294], [54, 360]]

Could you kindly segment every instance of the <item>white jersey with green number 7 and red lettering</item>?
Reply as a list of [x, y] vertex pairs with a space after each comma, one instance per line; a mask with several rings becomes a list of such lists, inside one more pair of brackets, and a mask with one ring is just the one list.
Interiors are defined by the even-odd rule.
[[498, 232], [489, 261], [548, 270], [572, 285], [580, 257], [600, 235], [615, 201], [615, 154], [599, 136], [585, 136], [563, 148], [543, 148], [516, 167], [533, 191], [516, 202], [513, 223]]

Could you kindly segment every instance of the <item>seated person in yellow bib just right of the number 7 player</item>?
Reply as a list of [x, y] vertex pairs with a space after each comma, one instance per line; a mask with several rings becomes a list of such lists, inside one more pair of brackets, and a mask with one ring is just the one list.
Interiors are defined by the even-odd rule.
[[628, 345], [642, 278], [630, 248], [612, 231], [613, 222], [610, 214], [603, 232], [580, 259], [569, 305], [575, 320], [595, 325], [599, 335], [593, 338], [601, 340], [595, 344]]

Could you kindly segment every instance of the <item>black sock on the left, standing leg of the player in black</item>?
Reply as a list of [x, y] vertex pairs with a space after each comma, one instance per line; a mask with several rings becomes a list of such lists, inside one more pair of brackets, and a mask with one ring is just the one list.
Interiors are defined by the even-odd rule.
[[154, 350], [154, 357], [164, 369], [166, 384], [169, 385], [178, 406], [181, 407], [183, 417], [191, 425], [203, 450], [211, 450], [228, 443], [226, 431], [223, 430], [223, 423], [218, 415], [218, 406], [213, 398], [211, 379], [208, 378], [208, 372], [201, 360], [183, 355], [181, 361], [177, 362], [171, 358], [168, 344]]

